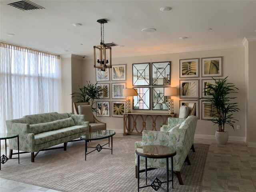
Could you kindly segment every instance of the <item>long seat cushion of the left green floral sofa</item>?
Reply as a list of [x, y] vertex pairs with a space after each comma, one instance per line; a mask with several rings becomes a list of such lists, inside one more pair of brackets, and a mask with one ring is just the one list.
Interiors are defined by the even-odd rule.
[[60, 138], [68, 137], [71, 135], [75, 135], [81, 133], [81, 136], [85, 134], [88, 128], [85, 126], [71, 126], [66, 128], [60, 128], [58, 130], [52, 130], [48, 132], [43, 132], [35, 135], [35, 145], [39, 145], [42, 143], [50, 142], [52, 140], [58, 140]]

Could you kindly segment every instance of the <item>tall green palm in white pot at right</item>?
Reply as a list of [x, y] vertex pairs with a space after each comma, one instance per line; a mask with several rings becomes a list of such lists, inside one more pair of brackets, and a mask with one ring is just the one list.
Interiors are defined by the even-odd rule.
[[234, 112], [238, 112], [238, 103], [232, 102], [236, 97], [230, 97], [231, 93], [238, 93], [236, 86], [233, 83], [227, 82], [227, 78], [223, 80], [214, 79], [213, 84], [208, 84], [204, 88], [206, 96], [199, 98], [204, 102], [208, 102], [214, 109], [214, 115], [211, 119], [214, 124], [218, 124], [218, 131], [215, 133], [215, 138], [218, 144], [226, 144], [228, 142], [228, 132], [225, 130], [225, 125], [229, 125], [234, 129], [234, 123], [238, 120], [233, 116]]

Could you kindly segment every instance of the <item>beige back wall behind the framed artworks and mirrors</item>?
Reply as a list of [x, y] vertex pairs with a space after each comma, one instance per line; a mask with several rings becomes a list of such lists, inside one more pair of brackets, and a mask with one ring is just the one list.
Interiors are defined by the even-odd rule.
[[[114, 52], [113, 48], [112, 52]], [[220, 50], [206, 50], [206, 51], [195, 51], [195, 52], [184, 52], [184, 53], [175, 53], [175, 54], [161, 54], [161, 55], [149, 55], [149, 56], [134, 56], [134, 57], [122, 57], [122, 58], [113, 58], [112, 64], [127, 64], [127, 80], [126, 87], [132, 87], [132, 64], [133, 63], [142, 63], [142, 62], [161, 62], [161, 61], [171, 61], [171, 86], [179, 86], [179, 60], [180, 59], [189, 59], [189, 58], [207, 58], [207, 57], [216, 57], [223, 56], [223, 76], [229, 76], [228, 81], [233, 82], [239, 88], [239, 94], [236, 94], [238, 98], [238, 107], [240, 112], [236, 112], [235, 116], [239, 120], [235, 124], [235, 130], [231, 127], [227, 127], [230, 134], [230, 138], [234, 140], [242, 140], [245, 138], [245, 67], [244, 67], [244, 48], [228, 48]], [[201, 62], [200, 62], [201, 63]], [[201, 76], [201, 70], [200, 70]], [[202, 78], [199, 79], [201, 84]], [[86, 84], [86, 80], [90, 80], [95, 83], [95, 68], [93, 67], [93, 60], [84, 60], [83, 61], [83, 77], [82, 82]], [[111, 85], [110, 85], [111, 86]], [[174, 99], [174, 112], [178, 113], [179, 111], [179, 97], [172, 97]], [[111, 100], [111, 99], [110, 99]], [[201, 108], [201, 105], [199, 106]], [[136, 112], [143, 112], [143, 110], [136, 110]], [[157, 112], [157, 111], [151, 111]], [[160, 111], [158, 111], [160, 112]], [[108, 129], [120, 130], [123, 129], [123, 119], [116, 117], [101, 117], [104, 122], [107, 123]], [[236, 125], [240, 125], [240, 130], [236, 130]], [[212, 122], [205, 120], [198, 120], [196, 134], [200, 134], [200, 137], [212, 138], [217, 130], [217, 126], [213, 126]], [[210, 135], [210, 136], [209, 136]]]

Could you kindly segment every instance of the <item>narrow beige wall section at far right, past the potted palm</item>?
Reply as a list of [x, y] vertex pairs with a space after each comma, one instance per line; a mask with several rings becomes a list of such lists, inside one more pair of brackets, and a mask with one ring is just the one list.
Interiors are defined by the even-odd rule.
[[245, 44], [245, 82], [246, 82], [246, 143], [256, 147], [256, 41]]

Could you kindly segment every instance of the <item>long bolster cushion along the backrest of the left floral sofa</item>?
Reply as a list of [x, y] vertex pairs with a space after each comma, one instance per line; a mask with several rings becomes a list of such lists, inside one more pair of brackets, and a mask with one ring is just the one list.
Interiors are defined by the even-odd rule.
[[34, 134], [39, 134], [42, 132], [48, 132], [52, 130], [57, 130], [64, 127], [74, 126], [75, 122], [72, 117], [56, 120], [52, 122], [46, 122], [46, 123], [38, 123], [30, 125], [30, 132]]

